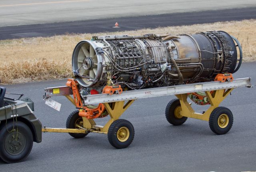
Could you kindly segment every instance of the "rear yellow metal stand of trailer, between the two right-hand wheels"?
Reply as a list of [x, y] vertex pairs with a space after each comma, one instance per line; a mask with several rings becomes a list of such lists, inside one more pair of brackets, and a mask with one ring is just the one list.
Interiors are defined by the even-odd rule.
[[206, 91], [208, 101], [210, 102], [210, 108], [206, 110], [203, 114], [197, 113], [190, 106], [187, 101], [188, 94], [176, 94], [175, 96], [180, 100], [182, 111], [180, 112], [181, 116], [186, 116], [188, 118], [196, 118], [200, 120], [209, 121], [210, 114], [212, 111], [219, 106], [219, 104], [228, 96], [228, 94], [233, 90], [215, 90], [211, 94], [210, 91]]

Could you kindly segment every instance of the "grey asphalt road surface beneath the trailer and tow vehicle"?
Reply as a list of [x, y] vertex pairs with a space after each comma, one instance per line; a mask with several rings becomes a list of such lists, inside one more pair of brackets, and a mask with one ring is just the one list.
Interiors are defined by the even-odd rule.
[[[243, 63], [235, 78], [256, 81], [256, 62]], [[52, 80], [7, 85], [7, 92], [24, 93], [35, 103], [35, 114], [47, 127], [65, 127], [66, 118], [75, 110], [64, 97], [60, 112], [44, 104], [45, 87], [65, 85], [66, 80]], [[122, 150], [113, 148], [104, 134], [90, 133], [82, 139], [68, 134], [43, 133], [42, 143], [35, 143], [24, 162], [4, 164], [3, 172], [241, 172], [256, 171], [256, 89], [237, 88], [220, 106], [230, 108], [234, 124], [225, 135], [214, 134], [208, 122], [189, 118], [182, 126], [170, 125], [164, 115], [167, 103], [175, 98], [164, 96], [136, 100], [121, 116], [132, 122], [135, 137]], [[193, 105], [194, 106], [194, 105]], [[194, 106], [198, 112], [204, 106]], [[104, 125], [106, 118], [96, 120]]]

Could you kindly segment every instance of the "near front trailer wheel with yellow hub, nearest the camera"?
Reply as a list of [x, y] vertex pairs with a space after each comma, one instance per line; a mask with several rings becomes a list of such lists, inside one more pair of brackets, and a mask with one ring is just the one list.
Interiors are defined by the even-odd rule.
[[127, 148], [134, 138], [134, 127], [128, 120], [114, 121], [108, 128], [108, 141], [115, 148]]

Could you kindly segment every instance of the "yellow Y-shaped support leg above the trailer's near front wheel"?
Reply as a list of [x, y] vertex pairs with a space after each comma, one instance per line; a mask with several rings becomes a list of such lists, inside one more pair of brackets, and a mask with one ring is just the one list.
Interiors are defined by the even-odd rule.
[[[101, 132], [108, 132], [108, 128], [114, 122], [115, 120], [118, 120], [118, 118], [124, 113], [124, 111], [127, 110], [127, 108], [134, 102], [134, 100], [129, 100], [126, 104], [125, 101], [121, 102], [113, 102], [113, 103], [104, 103], [104, 106], [106, 110], [108, 111], [108, 114], [110, 116], [110, 120], [106, 123], [106, 125], [103, 128], [100, 128]], [[111, 107], [110, 107], [111, 105]]]

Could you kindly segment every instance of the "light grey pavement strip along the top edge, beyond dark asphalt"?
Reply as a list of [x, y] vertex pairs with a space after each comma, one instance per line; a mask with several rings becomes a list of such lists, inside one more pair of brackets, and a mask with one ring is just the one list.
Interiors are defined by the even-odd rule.
[[255, 0], [1, 0], [0, 27], [247, 7]]

